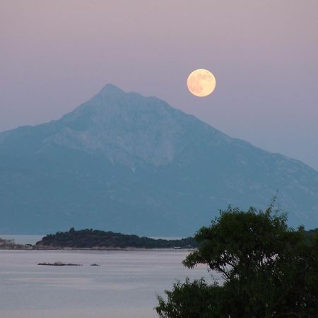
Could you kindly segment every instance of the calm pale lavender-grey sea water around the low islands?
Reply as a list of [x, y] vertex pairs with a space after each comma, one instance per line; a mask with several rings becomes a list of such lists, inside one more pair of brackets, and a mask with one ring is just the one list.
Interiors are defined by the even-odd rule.
[[[21, 244], [40, 240], [36, 235], [19, 239], [10, 235], [0, 237], [14, 238]], [[205, 265], [195, 269], [182, 265], [189, 252], [0, 250], [0, 317], [158, 317], [154, 307], [158, 305], [158, 295], [164, 296], [164, 290], [171, 290], [174, 283], [186, 277], [212, 279]], [[37, 265], [55, 261], [81, 266]]]

